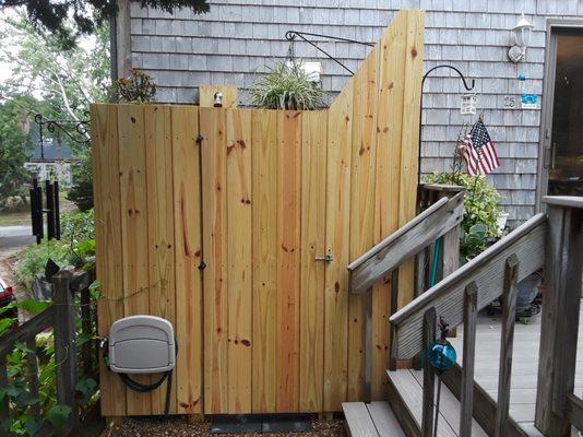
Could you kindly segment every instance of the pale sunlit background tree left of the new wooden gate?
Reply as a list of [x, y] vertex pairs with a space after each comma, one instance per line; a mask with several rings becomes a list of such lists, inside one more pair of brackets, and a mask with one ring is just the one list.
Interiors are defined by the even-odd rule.
[[[8, 60], [11, 68], [10, 79], [0, 86], [0, 101], [19, 101], [26, 113], [41, 114], [48, 119], [87, 119], [91, 103], [108, 99], [107, 23], [95, 28], [93, 35], [80, 38], [74, 47], [63, 49], [58, 36], [35, 28], [22, 11], [10, 15], [0, 22], [0, 57]], [[29, 98], [23, 101], [22, 96]], [[58, 134], [57, 131], [51, 135], [55, 139]], [[80, 163], [73, 167], [75, 186], [69, 198], [82, 210], [91, 208], [91, 153], [86, 145], [69, 141], [66, 135], [59, 139], [72, 150], [73, 157]]]

